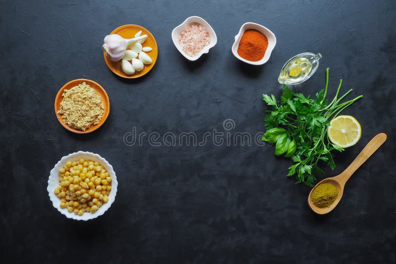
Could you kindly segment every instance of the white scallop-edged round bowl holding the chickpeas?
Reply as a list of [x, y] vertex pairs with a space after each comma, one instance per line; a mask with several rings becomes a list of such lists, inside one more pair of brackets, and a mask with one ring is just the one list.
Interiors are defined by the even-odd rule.
[[[59, 170], [66, 165], [66, 162], [77, 161], [81, 158], [85, 160], [92, 160], [94, 162], [97, 161], [100, 163], [100, 165], [103, 166], [103, 168], [108, 172], [111, 177], [111, 190], [110, 194], [108, 195], [108, 202], [103, 203], [98, 211], [96, 211], [94, 214], [85, 212], [82, 216], [79, 216], [75, 215], [73, 212], [69, 213], [66, 208], [60, 208], [60, 199], [55, 195], [53, 191], [55, 190], [56, 186], [59, 185]], [[98, 154], [92, 152], [78, 151], [64, 156], [60, 159], [60, 161], [58, 161], [58, 163], [56, 163], [55, 167], [53, 167], [53, 169], [49, 173], [47, 191], [49, 195], [49, 200], [51, 200], [53, 207], [56, 208], [62, 215], [65, 215], [67, 218], [74, 220], [87, 221], [103, 215], [104, 212], [106, 212], [110, 208], [117, 194], [117, 186], [117, 177], [115, 176], [113, 167], [105, 159], [100, 157]]]

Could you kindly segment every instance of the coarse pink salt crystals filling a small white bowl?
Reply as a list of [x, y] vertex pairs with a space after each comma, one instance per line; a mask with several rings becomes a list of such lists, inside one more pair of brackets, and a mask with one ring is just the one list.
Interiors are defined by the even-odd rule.
[[180, 34], [178, 40], [183, 51], [191, 57], [196, 56], [199, 51], [210, 44], [209, 32], [198, 23], [191, 24]]

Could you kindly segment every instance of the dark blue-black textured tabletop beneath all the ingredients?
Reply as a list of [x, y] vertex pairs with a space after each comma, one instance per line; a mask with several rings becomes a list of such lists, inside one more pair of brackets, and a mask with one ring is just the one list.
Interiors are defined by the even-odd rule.
[[[196, 62], [172, 29], [205, 18], [217, 45]], [[19, 263], [395, 263], [396, 3], [393, 0], [0, 1], [0, 262]], [[231, 53], [241, 25], [271, 29], [268, 63]], [[103, 37], [124, 24], [146, 27], [159, 57], [124, 80], [106, 67]], [[317, 73], [296, 89], [364, 94], [345, 114], [361, 123], [357, 145], [337, 153], [339, 174], [377, 133], [388, 140], [347, 182], [329, 215], [307, 206], [310, 188], [286, 178], [290, 161], [269, 146], [127, 146], [139, 132], [263, 132], [262, 93], [279, 96], [287, 59], [321, 52]], [[92, 79], [110, 97], [105, 124], [86, 135], [60, 126], [53, 101], [66, 82]], [[118, 193], [96, 220], [68, 220], [51, 205], [49, 171], [69, 153], [92, 151], [113, 165]]]

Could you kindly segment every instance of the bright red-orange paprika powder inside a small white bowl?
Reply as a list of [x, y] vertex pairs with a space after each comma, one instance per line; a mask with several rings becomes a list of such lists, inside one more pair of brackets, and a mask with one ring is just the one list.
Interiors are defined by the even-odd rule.
[[264, 57], [267, 47], [267, 37], [257, 30], [249, 29], [242, 35], [237, 52], [246, 60], [259, 61]]

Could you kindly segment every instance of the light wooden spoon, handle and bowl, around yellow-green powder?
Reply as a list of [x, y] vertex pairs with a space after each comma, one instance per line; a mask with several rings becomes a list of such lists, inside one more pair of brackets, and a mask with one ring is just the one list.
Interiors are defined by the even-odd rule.
[[316, 184], [315, 187], [322, 183], [333, 184], [338, 189], [338, 197], [330, 207], [316, 207], [312, 203], [311, 199], [311, 194], [315, 187], [312, 188], [311, 192], [308, 195], [308, 205], [312, 209], [312, 211], [319, 215], [324, 215], [331, 212], [340, 202], [341, 197], [343, 196], [345, 183], [347, 182], [349, 177], [352, 176], [352, 174], [385, 142], [386, 139], [387, 135], [385, 133], [379, 133], [378, 135], [374, 136], [373, 139], [368, 142], [368, 144], [363, 148], [363, 150], [359, 153], [359, 155], [357, 155], [355, 160], [352, 161], [352, 163], [348, 166], [347, 169], [345, 169], [344, 172], [342, 172], [338, 176], [325, 178], [324, 180], [321, 180], [318, 184]]

